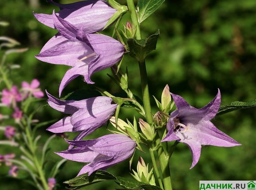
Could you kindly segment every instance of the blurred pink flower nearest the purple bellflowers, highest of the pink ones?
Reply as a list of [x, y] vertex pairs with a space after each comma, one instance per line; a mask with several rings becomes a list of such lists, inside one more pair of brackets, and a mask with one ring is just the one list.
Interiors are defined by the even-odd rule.
[[[27, 83], [26, 81], [23, 81], [21, 83], [21, 86], [25, 92], [33, 94], [35, 98], [44, 97], [44, 93], [41, 91], [40, 88], [38, 88], [40, 86], [40, 82], [37, 79], [33, 79], [31, 84]], [[25, 98], [27, 96], [28, 94], [26, 94]]]

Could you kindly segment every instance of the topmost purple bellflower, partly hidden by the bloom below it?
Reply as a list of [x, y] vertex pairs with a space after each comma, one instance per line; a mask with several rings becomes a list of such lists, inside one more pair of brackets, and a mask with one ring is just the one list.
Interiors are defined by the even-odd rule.
[[[99, 0], [80, 1], [64, 5], [53, 2], [52, 0], [48, 0], [48, 2], [60, 7], [61, 10], [56, 13], [57, 16], [78, 28], [83, 26], [84, 32], [87, 34], [101, 31], [117, 11], [110, 7], [106, 1]], [[52, 15], [36, 13], [34, 15], [39, 22], [46, 26], [57, 28]]]

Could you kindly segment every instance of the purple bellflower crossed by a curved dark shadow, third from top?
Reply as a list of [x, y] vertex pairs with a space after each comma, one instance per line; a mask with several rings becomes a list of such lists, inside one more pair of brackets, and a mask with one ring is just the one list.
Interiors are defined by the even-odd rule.
[[82, 139], [104, 125], [117, 108], [112, 98], [101, 96], [85, 100], [59, 100], [46, 91], [48, 104], [63, 113], [71, 114], [47, 128], [53, 133], [82, 131]]

